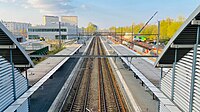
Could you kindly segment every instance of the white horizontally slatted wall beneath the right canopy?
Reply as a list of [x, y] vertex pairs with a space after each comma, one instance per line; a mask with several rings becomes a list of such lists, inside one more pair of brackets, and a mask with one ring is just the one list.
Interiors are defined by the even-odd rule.
[[[198, 48], [198, 57], [200, 57], [200, 48]], [[175, 67], [175, 83], [174, 83], [174, 103], [176, 103], [183, 111], [189, 111], [190, 102], [190, 86], [192, 75], [192, 60], [193, 50], [187, 53], [181, 60], [179, 60]], [[194, 112], [199, 112], [199, 98], [200, 93], [198, 88], [200, 87], [200, 59], [197, 59], [196, 79], [195, 79], [195, 93], [194, 93]], [[172, 89], [172, 69], [166, 73], [161, 81], [161, 90], [171, 98]]]

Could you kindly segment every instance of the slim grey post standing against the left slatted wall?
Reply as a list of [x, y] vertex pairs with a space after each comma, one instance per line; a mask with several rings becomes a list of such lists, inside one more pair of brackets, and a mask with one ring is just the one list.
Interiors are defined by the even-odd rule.
[[13, 80], [13, 96], [14, 96], [14, 101], [17, 99], [16, 98], [16, 87], [15, 87], [15, 71], [14, 71], [14, 64], [13, 64], [13, 56], [12, 56], [12, 48], [10, 48], [10, 64], [12, 66], [12, 80]]

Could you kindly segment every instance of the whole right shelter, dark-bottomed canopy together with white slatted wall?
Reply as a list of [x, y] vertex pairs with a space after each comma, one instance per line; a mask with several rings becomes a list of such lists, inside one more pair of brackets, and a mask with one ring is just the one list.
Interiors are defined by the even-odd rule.
[[161, 90], [185, 112], [200, 111], [199, 20], [200, 6], [175, 33], [155, 63], [162, 68], [171, 65], [163, 73]]

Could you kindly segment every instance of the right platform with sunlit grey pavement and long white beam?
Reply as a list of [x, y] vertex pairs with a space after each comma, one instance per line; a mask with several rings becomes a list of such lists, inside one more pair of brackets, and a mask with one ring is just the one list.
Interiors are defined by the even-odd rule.
[[[103, 41], [110, 54], [139, 55], [123, 45], [113, 44], [106, 38], [103, 38]], [[115, 60], [114, 58], [112, 59]], [[121, 83], [124, 82], [122, 83], [122, 88], [124, 88], [126, 92], [125, 95], [128, 96], [129, 102], [134, 100], [132, 105], [136, 112], [155, 112], [159, 110], [160, 104], [162, 104], [161, 106], [169, 112], [181, 112], [180, 109], [156, 87], [156, 85], [159, 85], [160, 71], [159, 69], [155, 70], [155, 68], [153, 68], [153, 62], [151, 60], [148, 58], [136, 58], [131, 60], [130, 58], [124, 57], [121, 57], [120, 59], [122, 62], [119, 58], [115, 61], [117, 66], [115, 67], [115, 70], [121, 73], [121, 76], [119, 76], [119, 73], [118, 77], [120, 78]], [[125, 65], [127, 66], [127, 69], [132, 71], [132, 75], [130, 72], [128, 73], [127, 70], [121, 69]], [[135, 75], [140, 80], [137, 80]], [[138, 81], [139, 83], [142, 83], [142, 85], [145, 85], [146, 88], [141, 86], [141, 84], [137, 84]], [[153, 95], [153, 98], [156, 96], [159, 102], [157, 100], [153, 100], [151, 95]]]

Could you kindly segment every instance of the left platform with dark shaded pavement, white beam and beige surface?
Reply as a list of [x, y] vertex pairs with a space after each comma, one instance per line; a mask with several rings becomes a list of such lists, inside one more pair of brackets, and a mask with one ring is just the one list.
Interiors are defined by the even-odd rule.
[[[56, 55], [73, 55], [81, 48], [82, 44], [72, 44], [66, 46], [66, 49], [60, 51]], [[72, 66], [72, 64], [75, 65], [75, 62], [72, 60], [68, 64], [66, 64], [69, 59], [70, 57], [50, 57], [37, 64], [34, 68], [28, 69], [28, 79], [30, 83], [29, 85], [31, 85], [32, 87], [29, 88], [24, 94], [22, 94], [22, 96], [20, 96], [15, 102], [13, 102], [5, 110], [5, 112], [14, 112], [16, 109], [20, 108], [21, 104], [29, 100], [29, 98], [29, 102], [31, 103], [31, 107], [29, 108], [30, 112], [45, 112], [46, 110], [48, 110], [51, 102], [57, 95], [57, 92], [62, 87], [62, 83], [64, 83], [64, 81], [68, 77], [66, 75], [67, 72], [70, 71], [68, 69], [72, 69], [69, 66]], [[65, 65], [65, 67], [67, 67], [68, 69], [63, 68], [63, 65]], [[61, 67], [62, 73], [60, 73], [61, 71], [59, 71]], [[55, 79], [48, 80], [56, 72], [59, 73], [56, 74]], [[59, 83], [58, 80], [60, 80]], [[37, 105], [33, 105], [32, 102]]]

